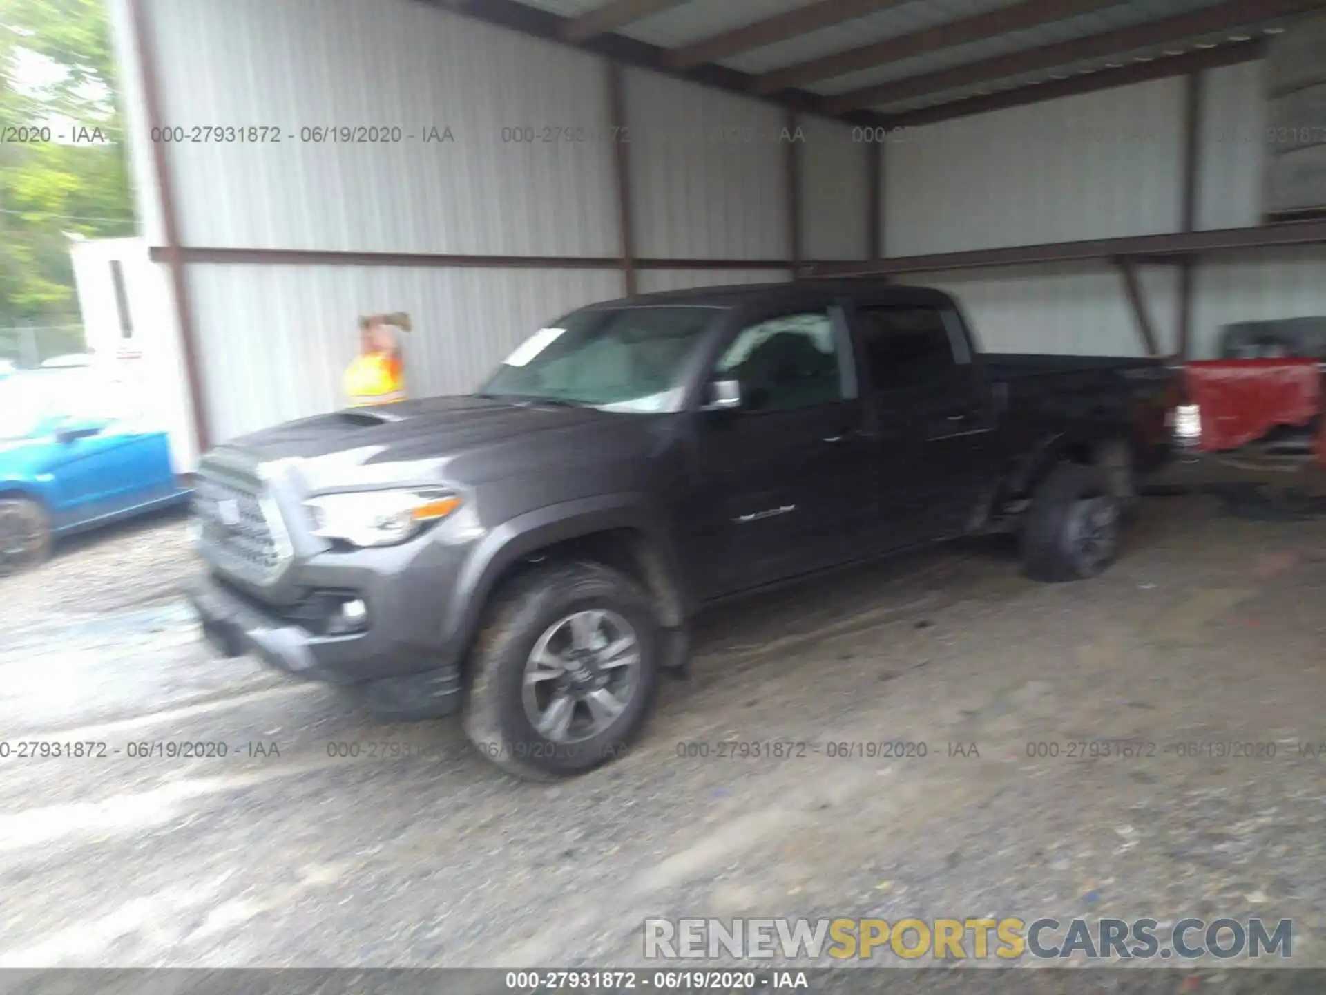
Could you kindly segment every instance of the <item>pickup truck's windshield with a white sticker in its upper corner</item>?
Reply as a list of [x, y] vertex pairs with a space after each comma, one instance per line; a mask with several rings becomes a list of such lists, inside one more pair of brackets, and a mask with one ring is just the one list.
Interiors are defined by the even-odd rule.
[[675, 410], [682, 367], [715, 314], [699, 306], [574, 312], [525, 340], [480, 394], [605, 411]]

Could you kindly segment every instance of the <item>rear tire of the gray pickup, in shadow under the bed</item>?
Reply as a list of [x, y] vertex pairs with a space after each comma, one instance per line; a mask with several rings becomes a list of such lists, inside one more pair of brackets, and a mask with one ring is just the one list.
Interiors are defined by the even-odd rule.
[[1059, 584], [1101, 574], [1118, 551], [1119, 500], [1099, 467], [1062, 463], [1036, 488], [1022, 528], [1022, 568]]

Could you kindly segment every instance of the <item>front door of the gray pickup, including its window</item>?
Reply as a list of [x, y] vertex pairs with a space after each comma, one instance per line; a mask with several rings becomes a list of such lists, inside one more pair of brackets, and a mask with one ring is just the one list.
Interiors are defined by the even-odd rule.
[[741, 403], [699, 422], [693, 539], [705, 594], [861, 556], [875, 480], [841, 309], [752, 316], [721, 350], [715, 382], [737, 382]]

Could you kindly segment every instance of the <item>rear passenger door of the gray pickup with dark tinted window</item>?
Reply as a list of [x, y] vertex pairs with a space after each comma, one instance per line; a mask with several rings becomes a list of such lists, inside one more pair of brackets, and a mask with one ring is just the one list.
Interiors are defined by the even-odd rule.
[[907, 523], [899, 544], [960, 533], [997, 459], [994, 406], [961, 317], [932, 304], [866, 298], [854, 326], [887, 450], [878, 500]]

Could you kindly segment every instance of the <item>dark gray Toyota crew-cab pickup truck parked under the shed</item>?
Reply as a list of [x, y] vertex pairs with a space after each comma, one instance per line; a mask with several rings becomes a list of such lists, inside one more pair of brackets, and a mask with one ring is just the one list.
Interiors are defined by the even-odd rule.
[[468, 397], [304, 418], [200, 464], [206, 638], [461, 711], [548, 779], [636, 734], [732, 596], [976, 532], [1091, 577], [1179, 401], [1156, 360], [983, 354], [957, 302], [873, 280], [583, 308]]

